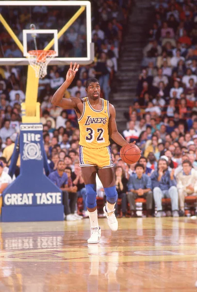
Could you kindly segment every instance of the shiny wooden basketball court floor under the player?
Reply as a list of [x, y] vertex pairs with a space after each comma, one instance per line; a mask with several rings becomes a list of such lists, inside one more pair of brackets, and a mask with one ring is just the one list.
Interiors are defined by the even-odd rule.
[[0, 292], [197, 292], [197, 220], [0, 223]]

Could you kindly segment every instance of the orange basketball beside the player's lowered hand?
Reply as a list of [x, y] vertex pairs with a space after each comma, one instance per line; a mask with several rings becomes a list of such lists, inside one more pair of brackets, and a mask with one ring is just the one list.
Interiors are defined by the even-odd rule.
[[120, 158], [127, 164], [138, 162], [141, 157], [141, 150], [135, 144], [127, 144], [120, 149]]

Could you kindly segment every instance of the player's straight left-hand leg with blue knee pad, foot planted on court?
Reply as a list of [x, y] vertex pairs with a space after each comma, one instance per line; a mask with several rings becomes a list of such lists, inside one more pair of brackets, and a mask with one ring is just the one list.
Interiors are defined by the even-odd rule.
[[96, 174], [97, 166], [82, 167], [82, 177], [86, 190], [85, 202], [91, 225], [91, 237], [88, 239], [88, 243], [98, 243], [101, 236], [97, 213]]

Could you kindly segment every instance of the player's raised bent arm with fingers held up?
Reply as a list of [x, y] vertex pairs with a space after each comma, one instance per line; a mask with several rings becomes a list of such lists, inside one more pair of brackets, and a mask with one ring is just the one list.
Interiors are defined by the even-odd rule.
[[70, 68], [66, 74], [66, 81], [60, 86], [60, 88], [58, 88], [58, 90], [54, 93], [54, 95], [51, 99], [51, 103], [54, 106], [61, 107], [64, 109], [76, 109], [77, 108], [77, 104], [80, 102], [79, 98], [77, 98], [77, 97], [63, 98], [63, 96], [64, 96], [66, 89], [72, 83], [78, 69], [79, 69], [79, 64], [77, 65], [77, 63], [75, 63], [73, 68], [72, 68], [72, 62], [70, 62]]

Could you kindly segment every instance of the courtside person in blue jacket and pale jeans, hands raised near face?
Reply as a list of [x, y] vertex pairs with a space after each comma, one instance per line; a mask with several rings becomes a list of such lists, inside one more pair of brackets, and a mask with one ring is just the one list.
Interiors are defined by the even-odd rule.
[[160, 158], [158, 161], [157, 170], [151, 175], [153, 197], [157, 208], [156, 217], [163, 217], [162, 198], [170, 198], [172, 205], [172, 216], [179, 217], [178, 213], [178, 190], [174, 171], [169, 173], [167, 161]]

